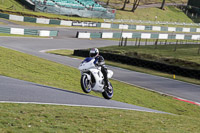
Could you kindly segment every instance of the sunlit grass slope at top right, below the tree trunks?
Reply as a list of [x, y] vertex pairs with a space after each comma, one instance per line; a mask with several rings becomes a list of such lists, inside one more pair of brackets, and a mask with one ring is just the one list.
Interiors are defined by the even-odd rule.
[[193, 21], [180, 9], [173, 6], [165, 7], [165, 10], [160, 10], [159, 8], [138, 8], [134, 13], [130, 11], [117, 10], [116, 19], [155, 21], [155, 16], [157, 16], [156, 21], [193, 23]]

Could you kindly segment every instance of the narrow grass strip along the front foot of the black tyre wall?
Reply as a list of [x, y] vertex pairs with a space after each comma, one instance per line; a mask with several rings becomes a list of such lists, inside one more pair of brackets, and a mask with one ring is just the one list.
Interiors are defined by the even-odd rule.
[[[54, 51], [48, 51], [48, 53], [84, 59], [83, 57], [74, 56], [72, 50], [54, 50]], [[117, 63], [117, 62], [108, 61], [108, 60], [106, 60], [106, 64], [111, 65], [111, 66], [115, 66], [115, 67], [120, 67], [120, 68], [124, 68], [124, 69], [128, 69], [128, 70], [132, 70], [132, 71], [137, 71], [137, 72], [142, 72], [142, 73], [147, 73], [147, 74], [151, 74], [151, 75], [157, 75], [157, 76], [162, 76], [162, 77], [173, 79], [172, 74], [167, 74], [167, 73], [163, 73], [163, 72], [159, 72], [159, 71], [155, 71], [155, 70], [151, 70], [151, 69], [147, 69], [147, 68], [131, 66], [131, 65]], [[176, 75], [176, 80], [200, 85], [200, 80], [198, 80], [198, 79], [192, 79], [192, 78], [187, 78], [187, 77]]]

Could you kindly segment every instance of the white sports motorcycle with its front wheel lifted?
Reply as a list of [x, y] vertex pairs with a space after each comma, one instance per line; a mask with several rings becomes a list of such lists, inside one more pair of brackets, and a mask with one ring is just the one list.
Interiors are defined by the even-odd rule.
[[[79, 66], [81, 71], [81, 88], [85, 93], [90, 93], [91, 91], [100, 92], [105, 99], [111, 99], [113, 96], [113, 86], [110, 82], [108, 82], [108, 87], [105, 86], [101, 66], [95, 66], [94, 61], [94, 58], [87, 57]], [[112, 76], [113, 71], [108, 70], [108, 79]]]

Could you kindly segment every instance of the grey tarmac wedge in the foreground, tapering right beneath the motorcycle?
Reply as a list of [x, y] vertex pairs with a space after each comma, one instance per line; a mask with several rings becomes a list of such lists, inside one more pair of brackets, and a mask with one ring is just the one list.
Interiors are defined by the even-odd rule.
[[[114, 100], [85, 95], [50, 86], [0, 76], [0, 101], [19, 103], [46, 103], [68, 106], [100, 107], [164, 113]], [[12, 95], [11, 95], [12, 94]]]

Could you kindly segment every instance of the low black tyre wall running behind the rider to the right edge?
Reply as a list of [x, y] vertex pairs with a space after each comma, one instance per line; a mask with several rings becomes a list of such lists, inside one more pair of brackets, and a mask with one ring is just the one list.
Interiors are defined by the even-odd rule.
[[[88, 57], [89, 50], [74, 50], [74, 55]], [[166, 72], [169, 74], [176, 74], [176, 75], [180, 75], [184, 77], [200, 79], [200, 70], [192, 70], [192, 69], [182, 68], [179, 66], [163, 64], [160, 62], [147, 61], [147, 60], [127, 57], [123, 55], [111, 54], [111, 53], [101, 52], [101, 55], [106, 60], [110, 60], [114, 62], [120, 62], [120, 63], [124, 63], [128, 65], [139, 66], [139, 67], [153, 69], [156, 71]]]

